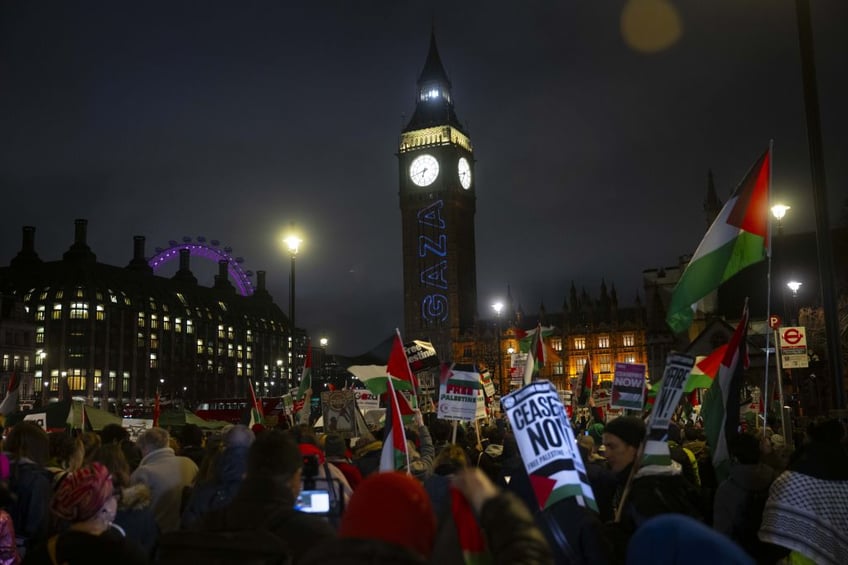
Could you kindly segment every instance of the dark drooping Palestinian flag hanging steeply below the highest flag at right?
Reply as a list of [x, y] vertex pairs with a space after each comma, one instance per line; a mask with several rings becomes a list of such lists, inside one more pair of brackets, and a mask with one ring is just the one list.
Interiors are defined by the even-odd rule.
[[748, 302], [742, 311], [742, 319], [727, 344], [718, 376], [704, 395], [701, 417], [707, 445], [712, 453], [713, 467], [718, 479], [727, 478], [730, 465], [728, 442], [732, 441], [739, 428], [739, 390], [745, 369], [748, 367]]

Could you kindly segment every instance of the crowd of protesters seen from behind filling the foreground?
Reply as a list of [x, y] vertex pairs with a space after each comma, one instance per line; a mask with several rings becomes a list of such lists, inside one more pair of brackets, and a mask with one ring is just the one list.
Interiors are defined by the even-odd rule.
[[[670, 466], [638, 464], [638, 417], [575, 428], [597, 512], [575, 498], [540, 510], [504, 418], [478, 432], [416, 412], [408, 473], [379, 471], [380, 429], [187, 425], [131, 441], [117, 425], [24, 421], [0, 456], [0, 565], [219, 563], [240, 541], [257, 563], [848, 563], [838, 421], [791, 452], [768, 429], [739, 434], [723, 480], [695, 424], [669, 428]], [[300, 511], [304, 486], [330, 510]]]

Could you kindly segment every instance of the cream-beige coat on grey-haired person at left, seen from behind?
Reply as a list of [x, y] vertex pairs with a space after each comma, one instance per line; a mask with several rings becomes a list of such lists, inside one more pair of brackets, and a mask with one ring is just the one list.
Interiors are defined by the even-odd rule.
[[144, 483], [150, 487], [153, 513], [162, 533], [179, 528], [183, 489], [191, 486], [196, 476], [194, 461], [175, 455], [170, 447], [145, 455], [130, 475], [132, 484]]

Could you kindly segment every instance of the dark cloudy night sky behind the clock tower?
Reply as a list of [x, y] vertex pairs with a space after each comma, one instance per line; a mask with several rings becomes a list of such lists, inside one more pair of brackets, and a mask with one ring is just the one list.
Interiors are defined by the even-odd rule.
[[[848, 2], [812, 4], [835, 222]], [[298, 325], [369, 349], [403, 326], [394, 154], [434, 23], [477, 159], [482, 317], [507, 285], [528, 313], [572, 280], [631, 305], [703, 236], [708, 170], [726, 199], [769, 139], [786, 230], [812, 229], [793, 0], [18, 1], [0, 4], [0, 264], [23, 225], [56, 260], [87, 218], [118, 265], [134, 235], [148, 255], [202, 235], [287, 310], [295, 222]]]

